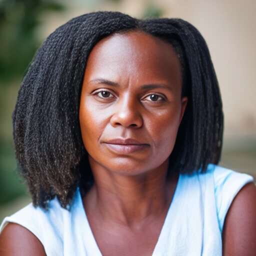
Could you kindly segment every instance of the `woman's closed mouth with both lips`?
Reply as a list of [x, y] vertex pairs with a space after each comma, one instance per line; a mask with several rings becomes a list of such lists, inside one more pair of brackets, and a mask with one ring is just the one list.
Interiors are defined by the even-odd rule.
[[131, 138], [116, 138], [104, 143], [111, 151], [116, 153], [133, 153], [149, 147], [149, 144]]

